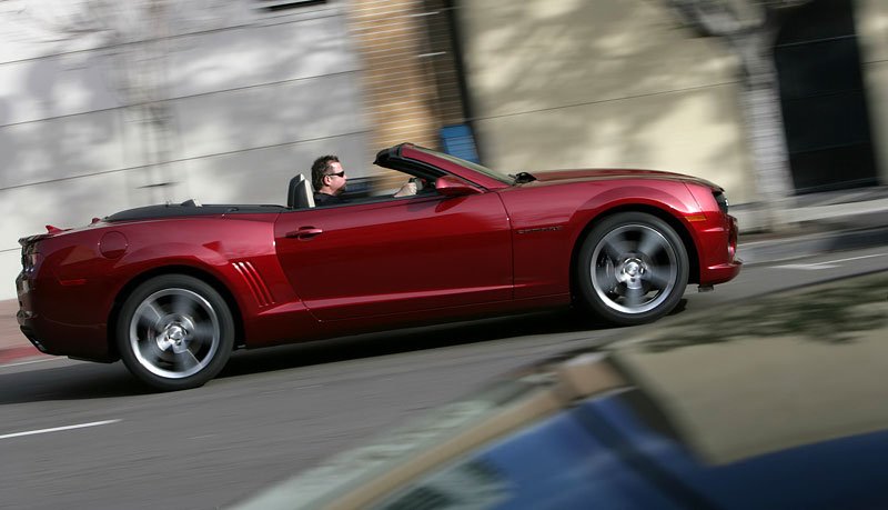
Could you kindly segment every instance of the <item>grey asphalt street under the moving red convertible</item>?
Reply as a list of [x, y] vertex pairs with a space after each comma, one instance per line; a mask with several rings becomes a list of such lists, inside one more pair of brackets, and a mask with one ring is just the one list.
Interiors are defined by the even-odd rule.
[[[877, 270], [888, 247], [747, 267], [688, 288], [673, 317]], [[224, 507], [498, 373], [633, 333], [563, 312], [412, 329], [239, 352], [205, 387], [162, 394], [120, 363], [2, 367], [0, 508]]]

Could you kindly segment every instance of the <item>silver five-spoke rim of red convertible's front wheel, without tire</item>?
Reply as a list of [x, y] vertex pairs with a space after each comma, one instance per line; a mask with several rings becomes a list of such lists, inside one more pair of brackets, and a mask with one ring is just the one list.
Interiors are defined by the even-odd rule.
[[645, 313], [669, 299], [678, 264], [675, 248], [662, 232], [629, 223], [595, 246], [589, 272], [604, 306], [620, 313]]

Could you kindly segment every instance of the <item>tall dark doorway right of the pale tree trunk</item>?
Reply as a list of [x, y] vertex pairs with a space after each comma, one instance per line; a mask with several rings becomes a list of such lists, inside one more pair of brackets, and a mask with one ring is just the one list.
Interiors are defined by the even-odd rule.
[[796, 192], [877, 184], [852, 0], [789, 14], [775, 61]]

